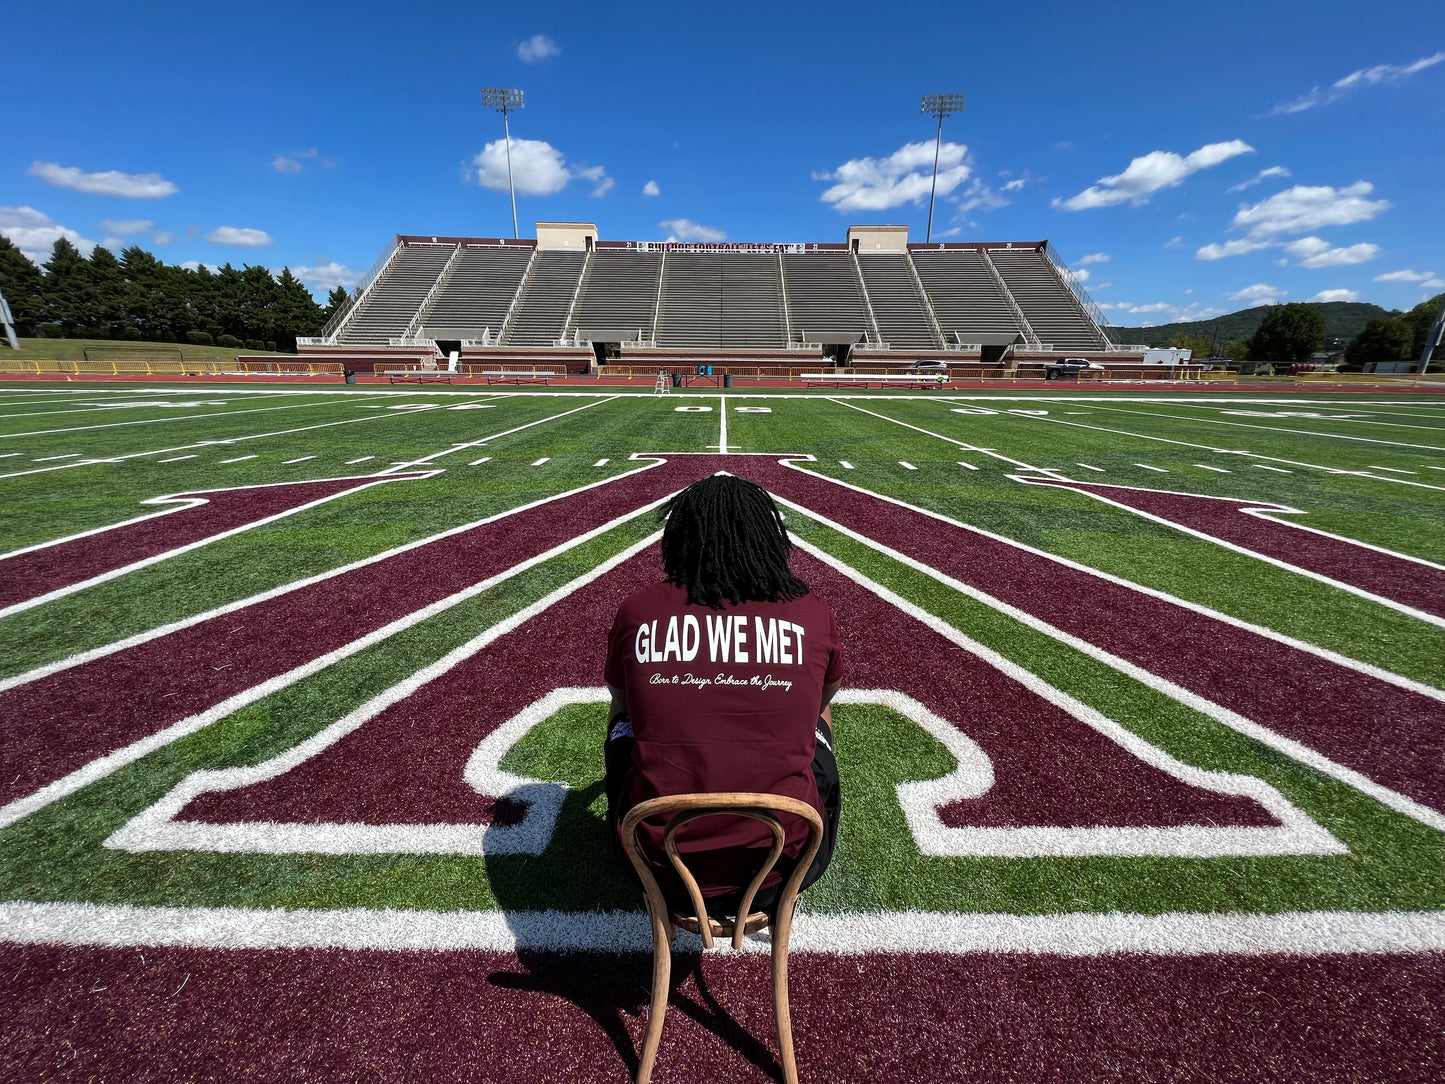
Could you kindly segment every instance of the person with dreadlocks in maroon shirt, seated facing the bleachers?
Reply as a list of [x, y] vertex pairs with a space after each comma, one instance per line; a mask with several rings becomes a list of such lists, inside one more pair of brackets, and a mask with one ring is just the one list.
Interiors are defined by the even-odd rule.
[[[792, 574], [792, 543], [762, 486], [717, 474], [666, 506], [665, 582], [626, 598], [607, 636], [611, 692], [607, 817], [617, 835], [627, 811], [649, 798], [753, 791], [798, 798], [822, 815], [824, 838], [803, 877], [832, 859], [841, 796], [832, 713], [842, 655], [828, 604]], [[757, 895], [769, 911], [808, 838], [783, 817], [783, 857]], [[640, 837], [669, 899], [686, 896], [662, 848], [665, 824]], [[731, 913], [772, 846], [766, 825], [709, 817], [679, 830], [678, 850], [708, 911]]]

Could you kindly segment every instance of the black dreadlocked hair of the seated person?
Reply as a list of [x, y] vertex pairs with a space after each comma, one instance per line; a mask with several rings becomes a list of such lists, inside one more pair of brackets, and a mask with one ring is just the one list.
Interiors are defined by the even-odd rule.
[[688, 601], [777, 603], [808, 594], [788, 567], [792, 542], [767, 490], [731, 474], [688, 486], [662, 510], [662, 569]]

